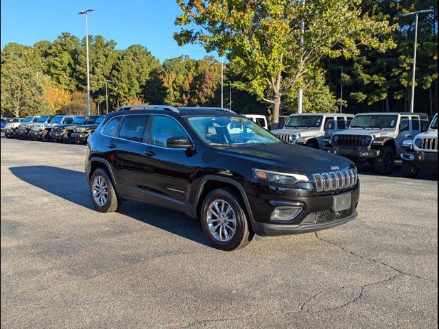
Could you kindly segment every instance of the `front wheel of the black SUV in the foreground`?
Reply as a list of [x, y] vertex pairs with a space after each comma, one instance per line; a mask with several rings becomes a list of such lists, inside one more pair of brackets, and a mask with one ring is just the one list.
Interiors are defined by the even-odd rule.
[[[218, 208], [223, 210], [222, 214], [217, 211]], [[215, 209], [214, 212], [211, 212], [211, 209]], [[218, 188], [206, 195], [200, 217], [204, 234], [217, 249], [230, 252], [245, 247], [253, 239], [254, 234], [248, 225], [244, 202], [233, 188]], [[231, 220], [233, 218], [235, 224]], [[215, 230], [217, 226], [219, 228]]]

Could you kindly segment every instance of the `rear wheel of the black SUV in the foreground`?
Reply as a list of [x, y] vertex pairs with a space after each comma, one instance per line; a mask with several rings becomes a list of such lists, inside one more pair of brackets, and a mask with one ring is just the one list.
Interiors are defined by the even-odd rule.
[[[99, 182], [99, 183], [98, 183]], [[99, 189], [97, 189], [97, 185], [99, 185]], [[99, 199], [99, 193], [95, 194], [95, 192], [104, 190], [104, 187], [106, 186], [106, 200], [103, 202], [103, 198]], [[91, 175], [90, 179], [90, 197], [91, 202], [93, 203], [93, 206], [95, 206], [95, 209], [99, 212], [115, 212], [117, 211], [117, 208], [119, 208], [119, 200], [117, 199], [117, 193], [115, 191], [115, 188], [112, 184], [112, 181], [105, 169], [98, 168], [95, 171], [93, 171], [93, 174]], [[105, 195], [104, 195], [105, 196]], [[100, 202], [100, 201], [102, 202]]]

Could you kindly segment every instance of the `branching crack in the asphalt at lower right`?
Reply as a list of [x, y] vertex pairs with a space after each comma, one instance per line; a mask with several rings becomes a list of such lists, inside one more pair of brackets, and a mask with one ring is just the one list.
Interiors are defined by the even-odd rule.
[[383, 265], [384, 267], [387, 267], [388, 269], [391, 269], [392, 271], [396, 271], [396, 274], [394, 274], [393, 276], [390, 276], [390, 278], [385, 278], [383, 280], [379, 280], [377, 282], [370, 282], [367, 284], [352, 284], [352, 285], [347, 285], [347, 286], [343, 286], [337, 289], [325, 289], [325, 292], [329, 292], [329, 291], [340, 291], [342, 289], [346, 289], [346, 288], [353, 288], [353, 287], [359, 287], [359, 293], [357, 294], [356, 297], [354, 297], [353, 299], [349, 300], [348, 302], [345, 302], [344, 304], [340, 305], [340, 306], [335, 306], [335, 307], [331, 307], [331, 308], [323, 308], [321, 310], [305, 310], [305, 306], [311, 302], [311, 300], [313, 300], [314, 298], [316, 298], [318, 295], [320, 295], [320, 293], [322, 293], [323, 291], [317, 291], [316, 293], [313, 293], [313, 295], [311, 295], [310, 297], [307, 298], [307, 300], [305, 300], [304, 302], [302, 302], [300, 304], [300, 306], [298, 307], [298, 309], [293, 309], [293, 310], [273, 310], [273, 311], [269, 311], [269, 312], [260, 312], [260, 311], [254, 311], [251, 313], [246, 313], [243, 315], [237, 315], [235, 317], [218, 317], [218, 318], [213, 318], [213, 319], [198, 319], [192, 322], [189, 322], [187, 324], [182, 324], [182, 325], [177, 325], [177, 326], [171, 326], [171, 328], [189, 328], [191, 326], [196, 326], [197, 324], [206, 324], [209, 322], [215, 322], [215, 321], [229, 321], [229, 320], [238, 320], [238, 319], [245, 319], [247, 317], [253, 317], [256, 316], [258, 314], [261, 315], [287, 315], [287, 314], [300, 314], [300, 313], [322, 313], [322, 312], [329, 312], [329, 311], [333, 311], [333, 310], [339, 310], [340, 308], [344, 308], [350, 304], [353, 304], [359, 300], [361, 300], [362, 297], [364, 297], [364, 290], [366, 289], [366, 287], [371, 287], [374, 286], [375, 284], [381, 284], [384, 282], [390, 282], [391, 280], [393, 280], [394, 278], [398, 278], [399, 276], [411, 276], [414, 278], [418, 278], [420, 280], [425, 280], [428, 282], [433, 282], [435, 284], [437, 284], [436, 281], [431, 280], [429, 278], [423, 278], [422, 276], [418, 276], [416, 274], [412, 274], [412, 273], [406, 273], [404, 271], [401, 271], [401, 269], [397, 269], [396, 267], [392, 266], [392, 265], [388, 265], [386, 263], [380, 262], [378, 260], [372, 259], [372, 258], [368, 258], [366, 256], [361, 256], [359, 254], [355, 254], [355, 252], [352, 252], [351, 250], [346, 249], [345, 247], [343, 247], [342, 245], [338, 245], [337, 243], [334, 243], [332, 241], [328, 241], [326, 239], [323, 239], [322, 237], [318, 236], [317, 232], [314, 232], [314, 234], [316, 235], [316, 238], [319, 239], [320, 241], [329, 243], [331, 245], [335, 245], [337, 247], [339, 247], [340, 249], [342, 249], [343, 252], [346, 252], [348, 254], [351, 254], [357, 258], [361, 258], [362, 260], [368, 260], [369, 262], [378, 264], [378, 265]]

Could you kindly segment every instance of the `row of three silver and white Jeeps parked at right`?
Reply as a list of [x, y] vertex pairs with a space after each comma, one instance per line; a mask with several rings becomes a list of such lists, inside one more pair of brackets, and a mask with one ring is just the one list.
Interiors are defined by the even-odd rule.
[[292, 114], [272, 133], [287, 143], [369, 162], [380, 175], [390, 174], [401, 157], [406, 177], [416, 177], [420, 166], [438, 167], [437, 114], [431, 125], [422, 113]]

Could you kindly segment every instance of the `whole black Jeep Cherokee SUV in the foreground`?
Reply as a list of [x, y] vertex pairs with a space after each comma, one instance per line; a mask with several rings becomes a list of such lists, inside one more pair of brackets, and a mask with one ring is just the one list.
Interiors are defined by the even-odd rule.
[[144, 106], [108, 114], [88, 139], [86, 178], [100, 212], [126, 199], [201, 220], [213, 245], [323, 230], [357, 217], [351, 160], [285, 143], [219, 108]]

